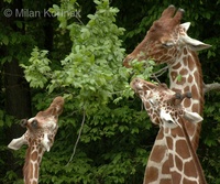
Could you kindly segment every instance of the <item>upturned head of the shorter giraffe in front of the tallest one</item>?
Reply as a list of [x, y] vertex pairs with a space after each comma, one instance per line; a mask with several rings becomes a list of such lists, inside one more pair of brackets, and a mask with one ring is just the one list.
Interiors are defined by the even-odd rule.
[[165, 84], [155, 85], [141, 78], [134, 78], [131, 87], [142, 99], [153, 123], [175, 128], [178, 125], [175, 123], [174, 117], [178, 116], [193, 123], [202, 120], [197, 112], [188, 111], [182, 106], [185, 98], [191, 98], [190, 93], [175, 93]]

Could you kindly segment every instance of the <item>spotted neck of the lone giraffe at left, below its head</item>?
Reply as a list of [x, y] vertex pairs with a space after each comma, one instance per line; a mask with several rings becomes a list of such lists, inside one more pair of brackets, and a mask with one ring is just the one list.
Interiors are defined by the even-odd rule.
[[38, 171], [44, 149], [36, 142], [30, 144], [26, 150], [25, 164], [23, 167], [24, 184], [37, 184]]

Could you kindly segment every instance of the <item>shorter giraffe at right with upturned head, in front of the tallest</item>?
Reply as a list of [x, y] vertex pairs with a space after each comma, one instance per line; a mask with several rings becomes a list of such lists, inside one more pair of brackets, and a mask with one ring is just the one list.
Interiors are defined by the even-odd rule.
[[[180, 105], [184, 98], [191, 95], [176, 94], [166, 85], [156, 86], [140, 78], [133, 79], [131, 87], [139, 94], [152, 122], [158, 123], [165, 138], [170, 178], [158, 177], [164, 170], [162, 165], [161, 171], [154, 170], [151, 181], [156, 184], [206, 184], [199, 159], [186, 131], [186, 121], [198, 123], [202, 118]], [[154, 155], [154, 159], [160, 160], [158, 155]]]

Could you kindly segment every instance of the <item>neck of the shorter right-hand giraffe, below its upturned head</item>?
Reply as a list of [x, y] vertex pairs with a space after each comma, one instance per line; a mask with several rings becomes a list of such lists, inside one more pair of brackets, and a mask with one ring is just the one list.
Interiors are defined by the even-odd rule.
[[200, 162], [187, 134], [185, 121], [183, 118], [178, 121], [180, 127], [164, 128], [172, 181], [178, 184], [206, 184]]

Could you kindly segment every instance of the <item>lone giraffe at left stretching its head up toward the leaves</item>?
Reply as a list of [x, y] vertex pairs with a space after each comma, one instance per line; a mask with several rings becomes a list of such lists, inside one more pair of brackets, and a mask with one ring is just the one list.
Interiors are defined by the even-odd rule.
[[29, 120], [23, 120], [22, 126], [28, 129], [26, 132], [8, 144], [8, 148], [12, 150], [19, 150], [23, 144], [28, 144], [23, 166], [24, 184], [38, 183], [42, 156], [54, 143], [58, 129], [58, 116], [63, 112], [63, 97], [56, 97], [46, 110], [40, 111]]

